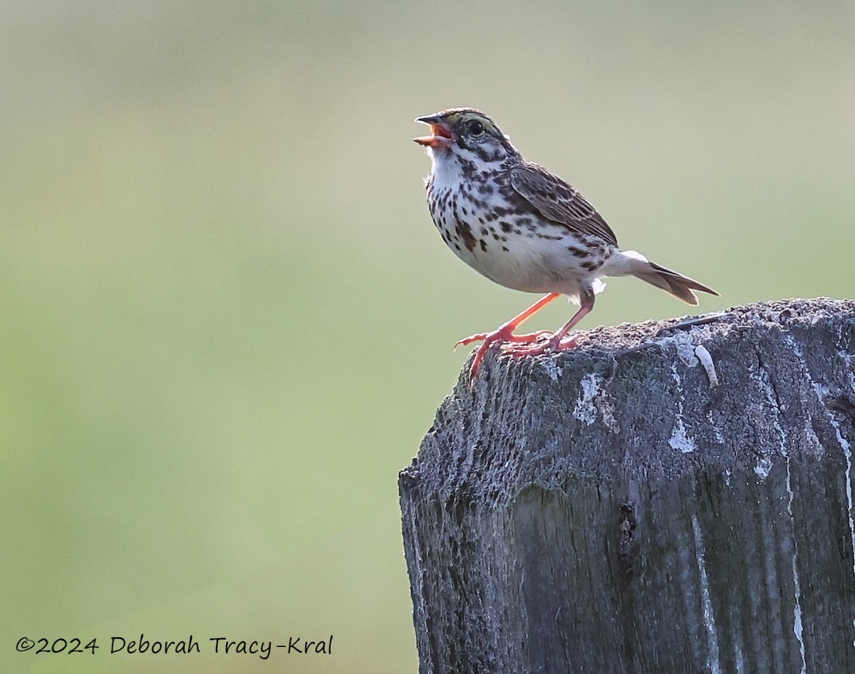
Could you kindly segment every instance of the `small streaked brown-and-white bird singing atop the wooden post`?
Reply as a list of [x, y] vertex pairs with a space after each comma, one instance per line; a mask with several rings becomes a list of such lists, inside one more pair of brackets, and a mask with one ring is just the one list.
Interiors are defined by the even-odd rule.
[[[524, 293], [547, 293], [496, 330], [457, 342], [481, 341], [470, 383], [491, 346], [513, 355], [574, 346], [570, 331], [593, 309], [604, 276], [635, 276], [687, 304], [698, 304], [695, 291], [718, 294], [639, 252], [622, 251], [593, 206], [556, 174], [523, 159], [481, 110], [445, 109], [416, 121], [431, 130], [414, 140], [431, 158], [428, 207], [445, 244], [491, 281]], [[514, 334], [561, 295], [579, 306], [562, 328]]]

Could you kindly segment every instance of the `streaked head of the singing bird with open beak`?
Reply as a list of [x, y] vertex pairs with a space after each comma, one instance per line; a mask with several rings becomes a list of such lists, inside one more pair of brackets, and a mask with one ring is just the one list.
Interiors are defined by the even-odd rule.
[[494, 163], [518, 154], [510, 139], [481, 110], [451, 108], [418, 117], [431, 135], [413, 140], [428, 148], [434, 160], [457, 157], [471, 163]]

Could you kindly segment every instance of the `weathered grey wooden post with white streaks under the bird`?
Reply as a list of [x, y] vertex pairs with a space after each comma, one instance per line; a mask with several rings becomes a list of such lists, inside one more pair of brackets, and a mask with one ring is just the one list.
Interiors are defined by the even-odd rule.
[[488, 357], [399, 488], [421, 674], [855, 672], [855, 302]]

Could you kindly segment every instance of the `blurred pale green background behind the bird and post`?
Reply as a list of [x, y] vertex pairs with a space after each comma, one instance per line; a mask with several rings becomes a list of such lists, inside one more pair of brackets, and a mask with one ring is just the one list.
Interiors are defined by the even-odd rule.
[[[416, 671], [397, 472], [451, 345], [534, 298], [445, 249], [412, 119], [485, 109], [722, 293], [701, 310], [852, 297], [853, 28], [844, 2], [3, 3], [0, 670]], [[619, 279], [582, 327], [686, 312]], [[107, 653], [140, 632], [334, 646]]]

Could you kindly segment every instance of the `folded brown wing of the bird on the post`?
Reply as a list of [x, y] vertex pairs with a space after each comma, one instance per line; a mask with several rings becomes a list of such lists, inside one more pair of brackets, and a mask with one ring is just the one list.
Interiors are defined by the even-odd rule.
[[539, 164], [523, 162], [510, 169], [510, 184], [545, 218], [617, 245], [615, 233], [586, 198]]

